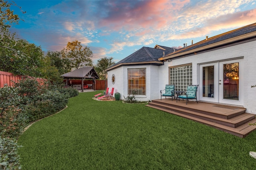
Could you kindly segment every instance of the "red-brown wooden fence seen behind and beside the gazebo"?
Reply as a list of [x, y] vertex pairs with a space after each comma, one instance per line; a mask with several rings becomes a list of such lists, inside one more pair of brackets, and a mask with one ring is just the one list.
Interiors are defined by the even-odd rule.
[[[66, 80], [64, 80], [64, 82], [66, 82]], [[106, 87], [108, 87], [108, 81], [107, 80], [96, 80], [95, 90], [106, 90], [105, 83], [106, 83]], [[82, 80], [70, 79], [68, 81], [69, 86], [81, 85], [81, 84], [82, 84]], [[93, 81], [92, 80], [84, 80], [84, 85], [86, 85], [86, 84], [93, 84]]]

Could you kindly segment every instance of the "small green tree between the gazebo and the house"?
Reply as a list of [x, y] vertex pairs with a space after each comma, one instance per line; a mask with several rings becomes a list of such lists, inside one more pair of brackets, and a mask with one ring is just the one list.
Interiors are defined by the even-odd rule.
[[94, 68], [97, 74], [100, 76], [100, 79], [106, 80], [106, 69], [112, 66], [113, 64], [115, 64], [115, 62], [113, 61], [113, 57], [103, 57], [97, 61], [97, 64], [96, 66], [94, 66]]

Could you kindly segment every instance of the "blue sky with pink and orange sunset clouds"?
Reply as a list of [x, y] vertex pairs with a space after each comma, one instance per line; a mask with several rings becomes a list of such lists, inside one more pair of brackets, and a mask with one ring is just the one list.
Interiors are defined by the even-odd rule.
[[78, 40], [102, 57], [124, 59], [142, 47], [181, 48], [256, 22], [256, 0], [14, 0], [18, 38], [61, 51]]

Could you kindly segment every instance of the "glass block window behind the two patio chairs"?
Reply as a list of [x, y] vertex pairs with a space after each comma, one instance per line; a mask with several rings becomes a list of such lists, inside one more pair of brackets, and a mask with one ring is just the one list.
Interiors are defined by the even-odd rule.
[[192, 84], [192, 64], [170, 67], [170, 84], [175, 84], [177, 91], [185, 91]]

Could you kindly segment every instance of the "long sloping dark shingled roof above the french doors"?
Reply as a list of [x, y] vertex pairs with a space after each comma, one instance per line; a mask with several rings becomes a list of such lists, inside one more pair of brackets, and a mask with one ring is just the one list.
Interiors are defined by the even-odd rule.
[[217, 42], [220, 42], [220, 41], [223, 41], [223, 40], [226, 40], [226, 39], [234, 38], [234, 37], [244, 35], [246, 33], [254, 32], [254, 31], [256, 31], [256, 23], [246, 25], [244, 27], [234, 29], [232, 31], [228, 31], [226, 33], [222, 33], [222, 34], [216, 35], [214, 37], [209, 37], [207, 40], [204, 39], [204, 40], [202, 40], [198, 43], [195, 43], [193, 45], [187, 46], [185, 48], [178, 49], [178, 50], [176, 50], [175, 53], [171, 53], [169, 55], [166, 55], [166, 57], [168, 57], [168, 56], [171, 57], [172, 55], [175, 55], [175, 54], [178, 54], [178, 53], [182, 53], [182, 52], [185, 52], [185, 51], [190, 51], [192, 49], [196, 49], [196, 48], [199, 48], [199, 47], [203, 47], [203, 46], [206, 46], [206, 45], [217, 43]]

